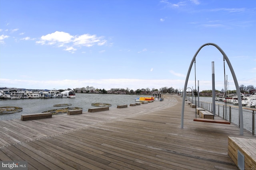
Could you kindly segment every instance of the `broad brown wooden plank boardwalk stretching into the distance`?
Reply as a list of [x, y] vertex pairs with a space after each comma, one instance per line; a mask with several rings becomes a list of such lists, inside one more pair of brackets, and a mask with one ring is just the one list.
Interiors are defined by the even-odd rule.
[[181, 129], [181, 106], [182, 98], [166, 95], [136, 107], [0, 121], [0, 160], [25, 160], [29, 170], [237, 170], [228, 137], [256, 137], [193, 121], [190, 105]]

